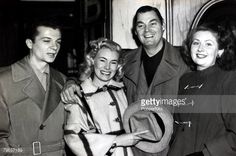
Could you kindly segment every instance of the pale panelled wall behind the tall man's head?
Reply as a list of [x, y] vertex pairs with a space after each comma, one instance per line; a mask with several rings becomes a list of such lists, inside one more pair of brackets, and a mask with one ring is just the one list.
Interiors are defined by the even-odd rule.
[[157, 7], [165, 19], [164, 37], [180, 46], [198, 10], [209, 0], [112, 0], [112, 38], [123, 48], [136, 48], [131, 28], [136, 10]]

